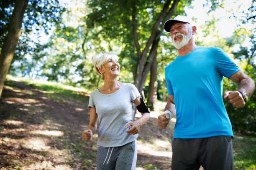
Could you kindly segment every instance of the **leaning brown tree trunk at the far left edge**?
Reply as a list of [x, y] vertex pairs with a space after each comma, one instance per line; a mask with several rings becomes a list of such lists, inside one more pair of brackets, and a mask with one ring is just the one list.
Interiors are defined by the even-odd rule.
[[5, 38], [0, 54], [0, 97], [3, 91], [5, 77], [9, 71], [13, 55], [21, 33], [23, 16], [28, 5], [28, 0], [16, 0], [11, 16], [8, 34]]

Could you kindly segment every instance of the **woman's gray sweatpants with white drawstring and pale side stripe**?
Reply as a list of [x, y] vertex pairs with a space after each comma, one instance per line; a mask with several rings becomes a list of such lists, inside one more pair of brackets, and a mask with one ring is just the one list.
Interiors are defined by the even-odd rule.
[[97, 170], [135, 170], [137, 141], [118, 147], [100, 147], [97, 152]]

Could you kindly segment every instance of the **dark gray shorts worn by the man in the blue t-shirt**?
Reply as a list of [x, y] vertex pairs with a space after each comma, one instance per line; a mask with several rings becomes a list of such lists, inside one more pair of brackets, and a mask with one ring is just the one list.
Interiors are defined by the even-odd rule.
[[172, 140], [172, 170], [233, 170], [231, 136]]

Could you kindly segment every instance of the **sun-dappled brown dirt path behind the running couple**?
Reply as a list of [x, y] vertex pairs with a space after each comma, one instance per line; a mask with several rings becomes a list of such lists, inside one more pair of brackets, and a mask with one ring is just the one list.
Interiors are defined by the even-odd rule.
[[[96, 169], [97, 134], [87, 143], [81, 139], [89, 123], [88, 96], [85, 102], [56, 102], [33, 85], [6, 84], [0, 100], [0, 170]], [[161, 130], [157, 115], [153, 112], [140, 129], [136, 170], [170, 169], [174, 122]]]

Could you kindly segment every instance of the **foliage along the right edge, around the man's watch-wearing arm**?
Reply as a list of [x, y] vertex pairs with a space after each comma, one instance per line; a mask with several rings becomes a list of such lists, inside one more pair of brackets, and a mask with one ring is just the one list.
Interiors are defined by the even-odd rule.
[[[253, 5], [254, 4], [254, 5]], [[252, 6], [247, 11], [242, 11], [243, 17], [239, 20], [241, 23], [253, 23], [255, 16], [252, 16], [251, 10], [255, 9], [255, 1], [252, 1]], [[234, 14], [236, 17], [236, 14]], [[239, 48], [233, 49], [230, 53], [233, 54], [235, 59], [241, 62], [242, 70], [249, 75], [256, 83], [256, 30], [246, 30], [243, 25], [238, 25], [238, 28], [233, 33], [232, 37], [226, 38], [228, 47], [233, 47], [236, 44]], [[243, 42], [249, 39], [249, 44], [243, 45]], [[238, 87], [230, 80], [224, 80], [225, 90], [237, 90]], [[256, 95], [255, 93], [246, 102], [246, 106], [240, 109], [234, 108], [228, 101], [225, 101], [225, 106], [230, 117], [233, 128], [243, 133], [256, 135]]]

